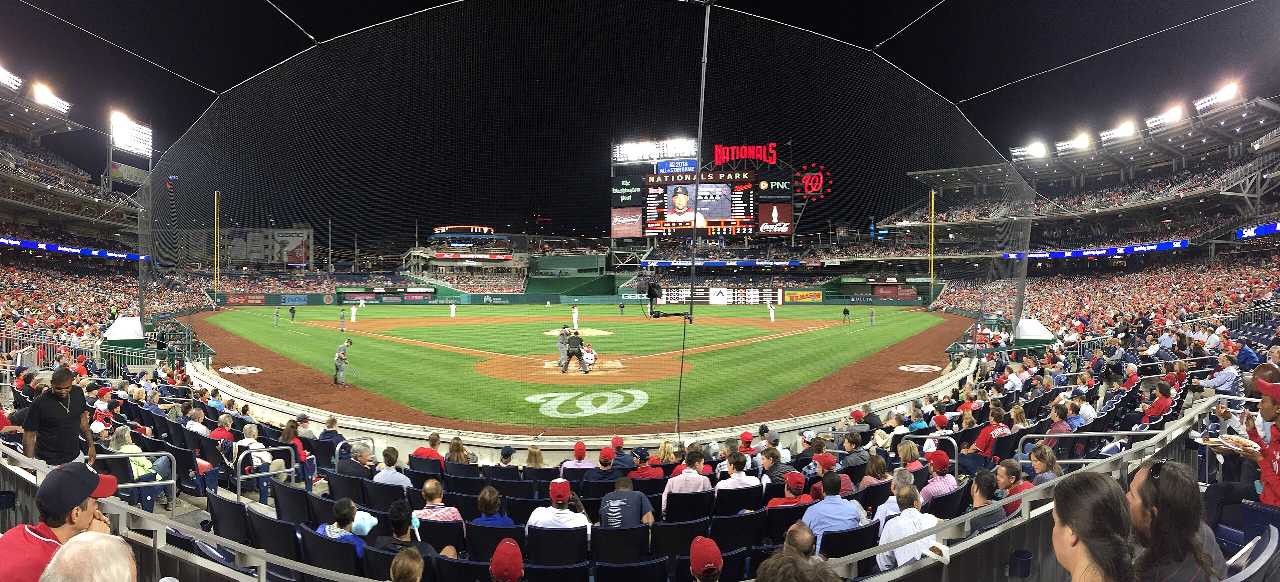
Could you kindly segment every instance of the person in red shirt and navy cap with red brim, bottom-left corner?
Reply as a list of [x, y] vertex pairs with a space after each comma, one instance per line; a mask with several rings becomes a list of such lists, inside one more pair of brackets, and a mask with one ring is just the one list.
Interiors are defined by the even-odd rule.
[[36, 491], [40, 523], [18, 526], [0, 537], [9, 582], [37, 582], [63, 544], [83, 532], [111, 533], [111, 522], [97, 500], [115, 495], [116, 481], [84, 463], [67, 463], [49, 472]]

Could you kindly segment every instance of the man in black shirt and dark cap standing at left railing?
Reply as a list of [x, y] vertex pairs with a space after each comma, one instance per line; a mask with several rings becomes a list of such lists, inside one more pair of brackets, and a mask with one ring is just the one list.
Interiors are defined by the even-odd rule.
[[[76, 385], [76, 372], [68, 367], [54, 371], [52, 386], [31, 403], [22, 425], [23, 453], [51, 466], [70, 463], [81, 455], [81, 437], [93, 443], [88, 431], [90, 411], [84, 391]], [[88, 448], [88, 466], [97, 450]]]

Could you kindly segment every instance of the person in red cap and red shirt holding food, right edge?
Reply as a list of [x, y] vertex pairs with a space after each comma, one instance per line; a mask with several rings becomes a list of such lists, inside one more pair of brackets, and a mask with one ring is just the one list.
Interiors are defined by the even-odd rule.
[[[1263, 441], [1262, 435], [1258, 432], [1258, 425], [1253, 418], [1253, 413], [1243, 412], [1239, 414], [1244, 418], [1243, 423], [1235, 416], [1224, 421], [1224, 423], [1233, 427], [1243, 425], [1244, 432], [1257, 445], [1257, 450], [1235, 450], [1220, 446], [1213, 449], [1213, 452], [1221, 455], [1238, 454], [1243, 459], [1258, 463], [1258, 469], [1262, 472], [1258, 478], [1262, 482], [1262, 494], [1258, 495], [1253, 482], [1221, 482], [1210, 485], [1204, 490], [1204, 522], [1208, 523], [1210, 528], [1217, 528], [1217, 524], [1222, 521], [1222, 508], [1226, 505], [1239, 505], [1243, 500], [1251, 500], [1262, 501], [1271, 507], [1280, 507], [1280, 469], [1277, 469], [1280, 467], [1280, 427], [1276, 426], [1276, 422], [1280, 421], [1280, 385], [1263, 380], [1257, 380], [1257, 384], [1258, 391], [1262, 393], [1262, 402], [1258, 403], [1258, 416], [1262, 417], [1263, 422], [1271, 423], [1270, 443]], [[1220, 407], [1219, 411], [1222, 412], [1222, 408]], [[1230, 411], [1225, 412], [1230, 413]], [[1240, 523], [1233, 523], [1233, 526], [1240, 526]]]

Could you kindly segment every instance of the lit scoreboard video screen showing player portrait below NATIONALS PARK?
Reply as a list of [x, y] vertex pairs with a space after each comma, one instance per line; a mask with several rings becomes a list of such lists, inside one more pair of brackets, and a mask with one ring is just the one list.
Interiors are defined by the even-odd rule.
[[707, 234], [755, 233], [751, 184], [650, 185], [645, 189], [646, 237], [673, 235], [677, 229]]

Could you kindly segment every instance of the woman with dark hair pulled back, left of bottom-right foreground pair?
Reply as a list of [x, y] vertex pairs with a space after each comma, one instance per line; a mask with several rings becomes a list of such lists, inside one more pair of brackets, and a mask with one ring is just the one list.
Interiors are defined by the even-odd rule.
[[1071, 582], [1133, 582], [1133, 521], [1114, 478], [1076, 472], [1053, 487], [1053, 555]]

